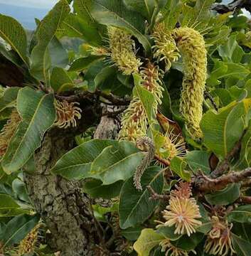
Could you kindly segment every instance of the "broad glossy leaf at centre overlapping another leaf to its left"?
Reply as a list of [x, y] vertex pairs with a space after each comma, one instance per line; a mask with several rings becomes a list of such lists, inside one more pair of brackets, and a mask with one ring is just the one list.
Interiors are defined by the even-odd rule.
[[100, 178], [104, 185], [132, 177], [141, 163], [144, 153], [134, 143], [121, 141], [107, 146], [92, 162], [90, 174]]

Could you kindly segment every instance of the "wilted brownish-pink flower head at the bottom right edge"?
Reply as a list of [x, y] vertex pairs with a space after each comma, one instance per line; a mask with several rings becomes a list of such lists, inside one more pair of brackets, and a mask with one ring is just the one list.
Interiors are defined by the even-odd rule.
[[228, 223], [223, 223], [218, 217], [213, 216], [213, 228], [205, 241], [205, 252], [218, 256], [236, 253], [233, 249], [230, 230], [231, 226], [229, 227]]

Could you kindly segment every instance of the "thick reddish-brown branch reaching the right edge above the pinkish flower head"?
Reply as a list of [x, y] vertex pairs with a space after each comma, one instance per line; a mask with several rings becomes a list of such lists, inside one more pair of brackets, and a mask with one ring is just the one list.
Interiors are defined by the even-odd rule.
[[228, 175], [220, 176], [220, 178], [209, 178], [205, 176], [201, 171], [199, 175], [193, 181], [193, 186], [196, 190], [201, 192], [213, 192], [220, 191], [230, 183], [238, 183], [251, 176], [251, 168], [247, 168], [243, 171], [233, 171]]

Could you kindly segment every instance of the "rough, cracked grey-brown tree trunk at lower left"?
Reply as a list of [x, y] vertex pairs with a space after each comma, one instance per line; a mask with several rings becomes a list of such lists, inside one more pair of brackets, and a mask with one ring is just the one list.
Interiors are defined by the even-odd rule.
[[61, 256], [95, 255], [94, 218], [77, 182], [50, 174], [50, 168], [73, 147], [73, 137], [52, 131], [35, 154], [36, 172], [26, 174], [28, 193], [48, 226], [50, 246]]

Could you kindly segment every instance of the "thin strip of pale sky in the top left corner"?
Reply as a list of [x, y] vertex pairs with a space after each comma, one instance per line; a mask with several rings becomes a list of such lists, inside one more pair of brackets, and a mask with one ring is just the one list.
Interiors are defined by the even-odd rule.
[[58, 0], [0, 0], [0, 4], [11, 4], [40, 9], [50, 9]]

